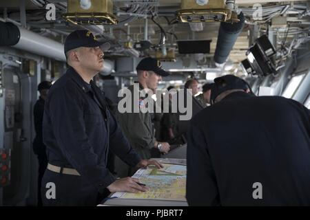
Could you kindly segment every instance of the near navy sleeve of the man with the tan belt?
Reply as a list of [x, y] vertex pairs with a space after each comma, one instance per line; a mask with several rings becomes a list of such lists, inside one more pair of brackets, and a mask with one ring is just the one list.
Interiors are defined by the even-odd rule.
[[115, 177], [94, 153], [87, 137], [83, 102], [74, 86], [59, 88], [50, 95], [50, 120], [56, 142], [68, 162], [94, 187], [107, 187]]

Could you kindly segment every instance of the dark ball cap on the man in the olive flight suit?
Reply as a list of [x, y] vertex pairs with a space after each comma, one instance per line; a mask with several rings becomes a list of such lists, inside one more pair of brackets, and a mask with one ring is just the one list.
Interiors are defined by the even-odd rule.
[[169, 76], [169, 73], [161, 67], [161, 62], [152, 57], [143, 58], [136, 66], [136, 70], [153, 71], [160, 76]]

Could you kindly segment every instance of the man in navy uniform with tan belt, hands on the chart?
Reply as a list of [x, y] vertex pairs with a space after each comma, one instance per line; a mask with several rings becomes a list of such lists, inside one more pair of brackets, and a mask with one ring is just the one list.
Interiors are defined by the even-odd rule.
[[48, 168], [41, 189], [45, 206], [95, 206], [110, 192], [147, 190], [138, 179], [116, 179], [110, 173], [109, 151], [136, 168], [161, 167], [132, 149], [107, 109], [105, 95], [92, 81], [103, 68], [103, 50], [109, 47], [87, 30], [76, 30], [65, 41], [70, 67], [52, 85], [44, 110]]

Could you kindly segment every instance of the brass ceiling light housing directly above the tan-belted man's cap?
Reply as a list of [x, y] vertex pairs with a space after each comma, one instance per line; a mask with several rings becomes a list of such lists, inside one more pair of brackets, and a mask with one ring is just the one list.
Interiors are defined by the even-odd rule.
[[67, 13], [63, 19], [74, 25], [115, 25], [118, 23], [113, 14], [112, 0], [92, 0], [85, 8], [81, 1], [68, 0]]

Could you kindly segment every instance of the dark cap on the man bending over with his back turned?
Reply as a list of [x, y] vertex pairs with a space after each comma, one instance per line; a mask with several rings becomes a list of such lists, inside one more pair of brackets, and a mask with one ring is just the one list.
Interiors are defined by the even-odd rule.
[[247, 83], [242, 78], [233, 75], [220, 76], [214, 79], [214, 85], [211, 88], [211, 100], [216, 100], [216, 97], [224, 91], [231, 89], [247, 90]]

